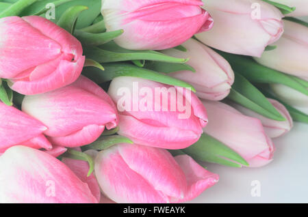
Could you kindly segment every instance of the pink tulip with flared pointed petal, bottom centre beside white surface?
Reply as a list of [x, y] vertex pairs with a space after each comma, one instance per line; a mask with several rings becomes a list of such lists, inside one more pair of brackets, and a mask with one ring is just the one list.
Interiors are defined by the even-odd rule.
[[101, 151], [94, 168], [101, 190], [116, 203], [190, 201], [219, 179], [190, 156], [136, 144]]

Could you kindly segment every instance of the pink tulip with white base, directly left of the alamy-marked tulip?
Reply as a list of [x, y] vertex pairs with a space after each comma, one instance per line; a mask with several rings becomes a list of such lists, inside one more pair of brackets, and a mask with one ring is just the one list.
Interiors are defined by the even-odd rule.
[[22, 110], [47, 126], [44, 134], [53, 145], [64, 147], [88, 145], [118, 121], [107, 93], [84, 76], [66, 87], [25, 96]]

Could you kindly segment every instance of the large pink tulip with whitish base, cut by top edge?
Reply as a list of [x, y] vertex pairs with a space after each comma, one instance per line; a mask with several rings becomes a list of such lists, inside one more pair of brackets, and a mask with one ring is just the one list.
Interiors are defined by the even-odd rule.
[[115, 42], [132, 50], [162, 50], [182, 44], [213, 20], [201, 0], [103, 0], [107, 31], [123, 29]]

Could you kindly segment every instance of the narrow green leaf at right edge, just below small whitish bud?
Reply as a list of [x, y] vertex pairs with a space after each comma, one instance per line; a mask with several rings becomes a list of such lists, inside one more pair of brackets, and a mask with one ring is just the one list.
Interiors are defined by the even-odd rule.
[[274, 96], [272, 93], [266, 91], [264, 88], [259, 88], [259, 89], [262, 91], [262, 93], [264, 93], [264, 95], [267, 98], [272, 98], [274, 100], [277, 100], [281, 104], [283, 104], [285, 106], [285, 109], [287, 109], [287, 111], [289, 111], [289, 113], [290, 113], [290, 115], [291, 115], [291, 117], [294, 121], [303, 122], [303, 123], [308, 124], [308, 115], [299, 111], [298, 109], [295, 109], [294, 107], [290, 106], [289, 104], [283, 102], [283, 100]]

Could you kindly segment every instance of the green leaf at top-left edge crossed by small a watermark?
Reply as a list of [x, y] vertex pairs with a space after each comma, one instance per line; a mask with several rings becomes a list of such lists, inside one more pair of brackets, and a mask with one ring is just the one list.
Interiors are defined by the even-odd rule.
[[62, 5], [68, 1], [73, 1], [73, 0], [40, 0], [36, 1], [29, 7], [25, 8], [23, 12], [21, 12], [20, 16], [31, 16], [31, 15], [40, 15], [43, 14], [44, 12], [47, 12], [49, 8], [46, 8], [46, 5], [48, 3], [53, 3], [55, 7]]

